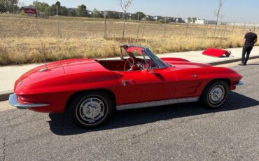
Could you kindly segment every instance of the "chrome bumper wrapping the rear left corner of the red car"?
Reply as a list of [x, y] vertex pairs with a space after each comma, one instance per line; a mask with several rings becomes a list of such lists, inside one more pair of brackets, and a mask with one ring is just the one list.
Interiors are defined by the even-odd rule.
[[17, 107], [18, 109], [29, 109], [32, 107], [43, 107], [43, 106], [49, 105], [49, 104], [21, 104], [18, 102], [16, 94], [10, 94], [9, 104]]

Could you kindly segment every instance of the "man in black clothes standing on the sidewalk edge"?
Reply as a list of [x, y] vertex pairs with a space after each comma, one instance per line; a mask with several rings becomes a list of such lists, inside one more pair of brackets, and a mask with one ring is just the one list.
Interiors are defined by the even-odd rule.
[[247, 29], [246, 35], [244, 36], [244, 47], [242, 52], [241, 64], [246, 65], [251, 50], [253, 49], [253, 45], [257, 42], [257, 35], [251, 31], [251, 29]]

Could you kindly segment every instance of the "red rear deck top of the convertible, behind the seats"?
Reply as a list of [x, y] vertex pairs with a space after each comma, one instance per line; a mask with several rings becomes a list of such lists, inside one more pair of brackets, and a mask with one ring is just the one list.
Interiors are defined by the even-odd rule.
[[64, 79], [69, 74], [103, 70], [106, 69], [93, 59], [68, 59], [51, 62], [23, 74], [16, 80], [14, 91], [16, 94], [23, 94], [28, 89], [31, 91], [32, 87], [36, 89], [37, 87], [49, 87], [65, 82]]

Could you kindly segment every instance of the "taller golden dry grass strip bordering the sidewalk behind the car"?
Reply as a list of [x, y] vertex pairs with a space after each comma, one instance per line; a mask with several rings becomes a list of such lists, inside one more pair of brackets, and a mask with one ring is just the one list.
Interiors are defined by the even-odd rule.
[[228, 38], [222, 41], [214, 38], [153, 38], [127, 41], [105, 40], [104, 38], [4, 38], [0, 42], [0, 64], [29, 64], [69, 58], [116, 57], [121, 44], [139, 44], [151, 48], [155, 53], [203, 50], [211, 46], [220, 48], [240, 47], [241, 41]]

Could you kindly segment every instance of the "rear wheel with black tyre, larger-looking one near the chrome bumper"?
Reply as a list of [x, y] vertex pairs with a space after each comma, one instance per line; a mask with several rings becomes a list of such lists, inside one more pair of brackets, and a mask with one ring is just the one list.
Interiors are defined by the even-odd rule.
[[97, 127], [111, 116], [113, 103], [102, 92], [85, 92], [73, 99], [69, 113], [76, 125], [84, 128]]

